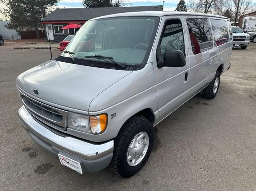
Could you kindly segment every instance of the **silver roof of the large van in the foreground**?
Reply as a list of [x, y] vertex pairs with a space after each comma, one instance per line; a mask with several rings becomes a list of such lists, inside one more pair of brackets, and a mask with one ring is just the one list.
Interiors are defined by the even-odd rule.
[[190, 15], [190, 16], [204, 16], [204, 17], [216, 17], [222, 19], [229, 19], [224, 16], [219, 15], [212, 15], [212, 14], [204, 14], [204, 13], [190, 13], [190, 12], [178, 12], [178, 11], [141, 11], [141, 12], [127, 12], [127, 13], [118, 13], [118, 14], [111, 14], [106, 16], [101, 16], [94, 19], [101, 19], [101, 18], [110, 18], [110, 17], [121, 17], [121, 16], [168, 16], [168, 15]]

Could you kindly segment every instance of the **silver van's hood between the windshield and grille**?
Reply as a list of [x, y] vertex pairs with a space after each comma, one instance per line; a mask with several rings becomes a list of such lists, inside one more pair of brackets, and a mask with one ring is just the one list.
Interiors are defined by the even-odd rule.
[[131, 72], [51, 60], [20, 74], [16, 85], [42, 100], [88, 111], [94, 97]]

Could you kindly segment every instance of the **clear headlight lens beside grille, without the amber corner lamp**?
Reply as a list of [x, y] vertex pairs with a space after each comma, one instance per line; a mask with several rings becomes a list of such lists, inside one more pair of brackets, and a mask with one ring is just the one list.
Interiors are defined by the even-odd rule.
[[68, 127], [91, 133], [88, 116], [68, 112]]

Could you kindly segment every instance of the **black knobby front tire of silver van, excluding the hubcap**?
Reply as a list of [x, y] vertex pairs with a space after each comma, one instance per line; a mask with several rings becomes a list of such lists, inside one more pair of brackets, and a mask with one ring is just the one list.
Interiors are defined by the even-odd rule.
[[[130, 166], [127, 162], [127, 150], [134, 136], [139, 132], [146, 132], [148, 134], [148, 150], [140, 163]], [[129, 178], [137, 173], [145, 165], [150, 156], [153, 146], [153, 133], [154, 128], [152, 123], [146, 118], [132, 116], [128, 119], [119, 131], [118, 136], [114, 139], [114, 153], [110, 162], [112, 170], [123, 178]]]

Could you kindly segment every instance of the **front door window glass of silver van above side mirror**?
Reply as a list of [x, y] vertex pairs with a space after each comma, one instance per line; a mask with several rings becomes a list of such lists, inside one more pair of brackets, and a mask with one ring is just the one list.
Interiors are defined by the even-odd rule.
[[166, 50], [180, 50], [184, 53], [184, 39], [180, 20], [168, 20], [160, 43], [161, 57]]

